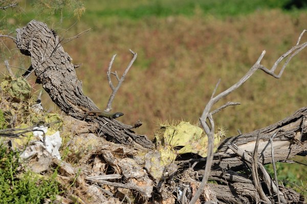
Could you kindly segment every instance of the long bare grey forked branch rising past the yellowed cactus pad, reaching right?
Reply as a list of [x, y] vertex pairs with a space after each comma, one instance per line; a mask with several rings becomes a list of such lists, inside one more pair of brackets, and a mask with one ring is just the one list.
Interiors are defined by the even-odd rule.
[[[307, 42], [303, 42], [300, 43], [300, 40], [303, 36], [303, 34], [307, 32], [306, 30], [303, 30], [303, 32], [300, 34], [297, 43], [294, 47], [292, 47], [288, 52], [284, 53], [283, 55], [281, 55], [277, 61], [274, 63], [274, 65], [272, 66], [272, 68], [269, 70], [267, 69], [264, 65], [260, 64], [262, 58], [264, 58], [266, 51], [262, 51], [261, 55], [259, 56], [258, 60], [256, 61], [256, 63], [250, 68], [250, 70], [238, 81], [236, 82], [234, 85], [232, 85], [231, 87], [229, 87], [228, 89], [224, 90], [224, 92], [218, 94], [217, 96], [213, 97], [218, 83], [220, 81], [218, 81], [218, 83], [216, 84], [216, 87], [213, 91], [213, 94], [209, 100], [209, 102], [207, 103], [203, 114], [200, 118], [200, 122], [207, 134], [208, 137], [208, 151], [207, 151], [207, 162], [206, 162], [206, 167], [205, 167], [205, 173], [202, 179], [202, 183], [200, 185], [200, 188], [198, 189], [198, 191], [195, 193], [195, 195], [193, 196], [193, 198], [191, 199], [191, 201], [189, 202], [191, 203], [195, 203], [196, 200], [199, 199], [200, 195], [202, 194], [202, 192], [204, 191], [204, 188], [207, 184], [208, 178], [209, 178], [209, 174], [210, 174], [210, 169], [212, 166], [212, 161], [213, 161], [213, 141], [214, 141], [214, 121], [212, 118], [212, 113], [210, 112], [212, 106], [217, 103], [218, 101], [220, 101], [222, 98], [226, 97], [227, 95], [229, 95], [231, 92], [233, 92], [235, 89], [237, 89], [238, 87], [240, 87], [244, 82], [246, 82], [257, 70], [262, 70], [265, 73], [275, 77], [275, 78], [280, 78], [284, 69], [286, 68], [287, 64], [289, 63], [289, 61], [292, 59], [292, 57], [294, 57], [296, 54], [298, 54], [301, 50], [303, 50], [306, 46], [307, 46]], [[289, 58], [287, 58], [289, 57]], [[285, 58], [287, 58], [286, 62], [284, 62], [280, 72], [278, 74], [275, 74], [275, 70], [277, 68], [277, 66], [279, 65], [279, 63], [281, 61], [283, 61]], [[207, 124], [207, 120], [209, 120], [210, 125]]]

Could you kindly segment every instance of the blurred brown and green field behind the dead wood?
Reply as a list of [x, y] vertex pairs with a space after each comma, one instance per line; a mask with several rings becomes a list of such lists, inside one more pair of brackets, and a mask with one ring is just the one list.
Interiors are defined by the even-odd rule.
[[[84, 93], [101, 109], [111, 94], [106, 80], [111, 57], [118, 54], [113, 71], [121, 74], [131, 59], [128, 50], [138, 53], [113, 108], [125, 113], [119, 119], [124, 123], [134, 124], [140, 119], [144, 124], [137, 132], [151, 138], [160, 121], [196, 123], [219, 78], [218, 92], [222, 92], [249, 70], [262, 50], [267, 51], [262, 64], [271, 67], [307, 29], [307, 3], [295, 0], [18, 3], [18, 8], [0, 10], [1, 34], [14, 36], [14, 30], [31, 19], [46, 22], [62, 38], [92, 28], [63, 47], [73, 63], [82, 63], [76, 72]], [[14, 50], [11, 40], [0, 40], [0, 63], [9, 59], [11, 65], [27, 69], [29, 58]], [[249, 132], [265, 127], [306, 106], [306, 54], [304, 50], [294, 57], [280, 79], [258, 71], [215, 106], [227, 101], [242, 103], [215, 115], [215, 123], [227, 128], [229, 136], [235, 136], [237, 129]], [[1, 69], [5, 72], [4, 66]], [[41, 87], [34, 84], [34, 79], [38, 92]], [[47, 94], [43, 105], [56, 110]], [[307, 163], [305, 158], [296, 160]], [[307, 168], [295, 164], [291, 168], [279, 166], [279, 175], [306, 189]]]

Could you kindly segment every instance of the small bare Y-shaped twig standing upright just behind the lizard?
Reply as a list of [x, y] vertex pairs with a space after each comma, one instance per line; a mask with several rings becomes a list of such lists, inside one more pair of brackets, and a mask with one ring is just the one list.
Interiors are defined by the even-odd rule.
[[[109, 100], [108, 100], [108, 102], [107, 102], [105, 111], [110, 111], [110, 110], [112, 110], [112, 102], [113, 102], [113, 100], [114, 100], [114, 98], [115, 98], [115, 95], [116, 95], [116, 93], [117, 93], [119, 87], [121, 86], [122, 82], [125, 80], [126, 74], [128, 73], [130, 67], [132, 66], [132, 64], [134, 63], [134, 61], [137, 59], [138, 54], [135, 53], [135, 52], [133, 52], [132, 50], [129, 50], [129, 51], [133, 54], [133, 58], [131, 59], [131, 61], [130, 61], [130, 63], [128, 64], [128, 66], [126, 67], [126, 69], [125, 69], [125, 71], [124, 71], [124, 73], [123, 73], [123, 75], [122, 75], [122, 77], [121, 77], [120, 79], [119, 79], [119, 77], [118, 77], [118, 75], [117, 75], [117, 72], [115, 72], [115, 74], [111, 72], [111, 67], [112, 67], [112, 64], [113, 64], [113, 62], [114, 62], [114, 59], [115, 59], [115, 56], [116, 56], [116, 55], [113, 55], [112, 60], [111, 60], [111, 62], [109, 63], [109, 66], [108, 66], [108, 70], [107, 70], [106, 76], [107, 76], [108, 83], [109, 83], [109, 85], [110, 85], [110, 87], [111, 87], [111, 89], [112, 89], [112, 94], [111, 94], [111, 96], [110, 96], [110, 98], [109, 98]], [[116, 79], [118, 80], [118, 84], [117, 84], [116, 87], [114, 87], [114, 85], [113, 85], [113, 83], [112, 83], [110, 74], [115, 75]]]

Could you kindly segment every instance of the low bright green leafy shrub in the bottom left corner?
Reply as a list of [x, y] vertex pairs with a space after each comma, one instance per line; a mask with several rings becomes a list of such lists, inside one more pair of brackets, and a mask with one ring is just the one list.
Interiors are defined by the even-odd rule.
[[1, 203], [43, 203], [55, 200], [59, 194], [57, 172], [45, 177], [31, 171], [20, 171], [19, 153], [0, 144], [0, 200]]

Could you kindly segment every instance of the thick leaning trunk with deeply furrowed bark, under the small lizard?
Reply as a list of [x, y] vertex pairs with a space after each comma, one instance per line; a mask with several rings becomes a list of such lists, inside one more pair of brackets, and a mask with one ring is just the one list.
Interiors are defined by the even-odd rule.
[[[31, 56], [37, 81], [42, 83], [52, 101], [65, 114], [82, 119], [86, 111], [99, 109], [89, 97], [84, 96], [72, 58], [64, 52], [53, 30], [42, 22], [32, 20], [24, 28], [16, 29], [16, 33], [17, 48], [21, 53]], [[95, 130], [108, 140], [153, 147], [145, 135], [136, 134], [131, 126], [115, 119], [99, 117], [93, 123], [97, 124]]]

